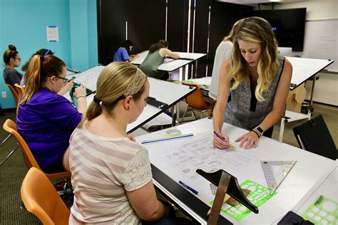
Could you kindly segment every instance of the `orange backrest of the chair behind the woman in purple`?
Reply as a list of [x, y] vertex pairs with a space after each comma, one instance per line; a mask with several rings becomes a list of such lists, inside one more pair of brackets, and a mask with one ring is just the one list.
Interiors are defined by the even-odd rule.
[[16, 127], [16, 123], [13, 120], [7, 119], [4, 122], [3, 127], [4, 127], [4, 130], [14, 135], [14, 137], [18, 141], [22, 156], [24, 157], [24, 162], [26, 164], [26, 167], [28, 169], [31, 167], [36, 167], [41, 170], [38, 162], [36, 162], [34, 155], [31, 153], [31, 150], [29, 149], [29, 146], [27, 145], [26, 141], [19, 134], [18, 128]]

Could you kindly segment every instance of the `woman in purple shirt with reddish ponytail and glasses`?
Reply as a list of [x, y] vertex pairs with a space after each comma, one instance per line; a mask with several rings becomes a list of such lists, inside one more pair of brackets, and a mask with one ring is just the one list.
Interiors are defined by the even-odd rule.
[[68, 169], [68, 141], [86, 112], [86, 88], [75, 89], [78, 109], [57, 93], [68, 83], [66, 64], [56, 56], [33, 56], [16, 116], [18, 131], [44, 172]]

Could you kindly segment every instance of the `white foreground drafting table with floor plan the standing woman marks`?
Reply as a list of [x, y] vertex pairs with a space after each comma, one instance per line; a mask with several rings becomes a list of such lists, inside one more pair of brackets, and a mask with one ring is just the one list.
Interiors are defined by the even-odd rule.
[[[193, 183], [188, 179], [188, 182], [186, 183], [190, 184], [190, 187], [193, 187], [199, 192], [198, 195], [195, 195], [181, 187], [180, 184], [178, 184], [178, 180], [187, 180], [187, 173], [189, 174], [190, 172], [195, 171], [194, 169], [191, 169], [191, 167], [196, 167], [195, 169], [198, 169], [200, 163], [205, 162], [207, 159], [203, 158], [198, 161], [195, 160], [194, 157], [189, 157], [186, 164], [170, 164], [167, 155], [171, 157], [173, 150], [185, 150], [185, 147], [187, 146], [196, 145], [198, 140], [193, 140], [193, 138], [210, 135], [211, 137], [209, 138], [212, 140], [212, 120], [204, 118], [177, 127], [152, 132], [147, 135], [136, 137], [136, 141], [142, 142], [143, 140], [153, 140], [164, 137], [165, 132], [171, 129], [180, 130], [183, 134], [193, 132], [195, 133], [195, 136], [180, 140], [143, 145], [148, 149], [150, 162], [152, 164], [153, 182], [160, 192], [163, 192], [163, 194], [171, 199], [171, 201], [175, 202], [175, 204], [177, 204], [181, 210], [185, 211], [186, 214], [190, 214], [190, 216], [201, 224], [206, 224], [206, 214], [208, 209], [210, 209], [210, 206], [204, 202], [205, 199], [208, 202], [210, 198], [212, 198], [210, 197], [209, 182], [202, 177], [191, 179], [191, 182]], [[230, 137], [230, 142], [236, 147], [235, 152], [232, 152], [231, 154], [238, 153], [245, 155], [250, 161], [245, 158], [238, 159], [238, 162], [236, 162], [236, 160], [230, 161], [227, 159], [227, 154], [229, 152], [225, 150], [212, 150], [218, 152], [217, 154], [222, 156], [216, 158], [213, 163], [220, 164], [222, 169], [225, 169], [225, 171], [230, 172], [230, 174], [237, 177], [239, 183], [242, 183], [247, 179], [252, 179], [254, 181], [256, 180], [256, 182], [260, 183], [262, 186], [267, 186], [260, 160], [296, 160], [297, 163], [282, 182], [279, 189], [277, 189], [277, 194], [262, 204], [262, 206], [259, 206], [259, 214], [250, 213], [240, 221], [232, 219], [232, 217], [226, 214], [222, 214], [222, 216], [220, 216], [220, 218], [223, 219], [222, 224], [271, 224], [275, 221], [279, 221], [287, 211], [290, 211], [297, 202], [304, 197], [304, 194], [316, 184], [323, 174], [332, 170], [336, 165], [336, 162], [332, 159], [312, 154], [311, 152], [277, 142], [267, 137], [260, 138], [259, 146], [256, 149], [242, 150], [238, 148], [239, 144], [233, 140], [240, 137], [240, 135], [245, 134], [247, 130], [225, 123], [223, 132], [227, 133]], [[205, 145], [210, 148], [212, 143], [201, 143], [199, 145]], [[195, 146], [190, 152], [197, 154], [195, 153], [197, 150], [198, 146]], [[183, 156], [184, 155], [179, 155], [178, 157], [184, 158]], [[239, 160], [242, 160], [242, 165], [241, 167], [236, 167], [236, 164], [240, 162]], [[192, 166], [189, 162], [195, 164]], [[187, 168], [190, 168], [190, 172], [188, 172]], [[213, 169], [217, 170], [215, 167]], [[196, 185], [196, 182], [198, 185]]]

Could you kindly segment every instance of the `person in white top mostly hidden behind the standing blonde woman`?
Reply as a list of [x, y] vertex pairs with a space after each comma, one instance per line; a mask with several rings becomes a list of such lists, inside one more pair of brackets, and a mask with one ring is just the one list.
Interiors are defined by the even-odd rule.
[[209, 88], [209, 97], [213, 100], [217, 99], [218, 80], [220, 74], [220, 66], [227, 59], [230, 58], [232, 52], [232, 40], [235, 36], [235, 31], [241, 20], [237, 21], [231, 28], [230, 33], [225, 36], [216, 49], [214, 65], [212, 67], [211, 83]]

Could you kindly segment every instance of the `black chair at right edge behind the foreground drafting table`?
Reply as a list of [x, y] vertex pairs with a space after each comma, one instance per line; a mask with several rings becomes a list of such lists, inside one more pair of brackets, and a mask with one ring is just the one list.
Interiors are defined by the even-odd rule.
[[337, 147], [322, 115], [293, 128], [293, 132], [299, 147], [302, 147], [303, 150], [329, 159], [337, 159]]

